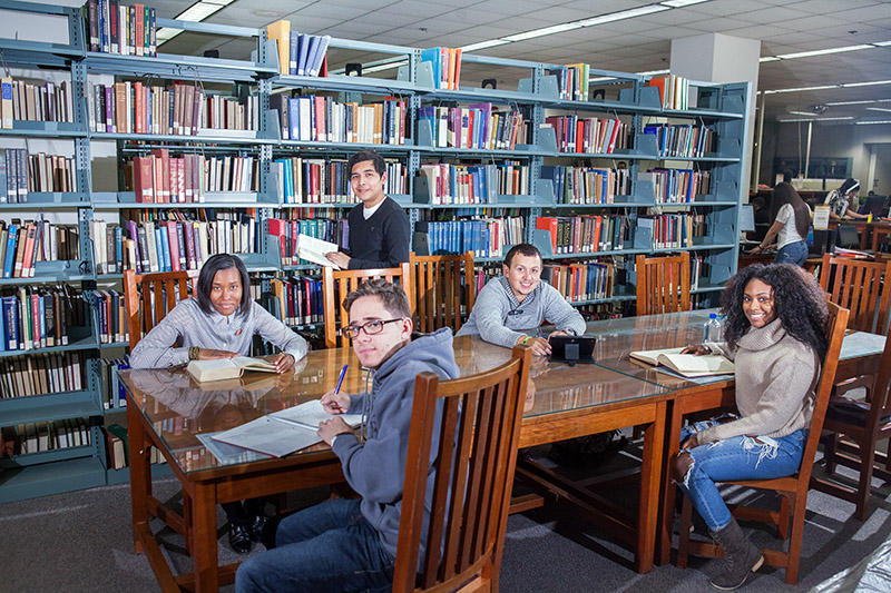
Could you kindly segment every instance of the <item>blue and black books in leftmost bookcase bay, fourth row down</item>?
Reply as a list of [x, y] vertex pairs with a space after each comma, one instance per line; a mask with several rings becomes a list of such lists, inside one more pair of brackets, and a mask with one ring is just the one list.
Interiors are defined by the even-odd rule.
[[84, 300], [68, 285], [21, 286], [0, 304], [4, 352], [67, 346], [68, 328], [86, 325]]

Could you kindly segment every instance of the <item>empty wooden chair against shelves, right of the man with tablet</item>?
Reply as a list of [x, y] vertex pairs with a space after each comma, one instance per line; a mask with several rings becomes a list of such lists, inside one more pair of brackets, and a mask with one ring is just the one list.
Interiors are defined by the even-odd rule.
[[689, 310], [689, 254], [637, 256], [637, 315]]

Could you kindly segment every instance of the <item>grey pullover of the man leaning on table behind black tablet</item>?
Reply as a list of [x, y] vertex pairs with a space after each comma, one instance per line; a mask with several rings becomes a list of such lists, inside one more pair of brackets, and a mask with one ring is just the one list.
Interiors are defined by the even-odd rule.
[[486, 283], [457, 335], [479, 334], [486, 342], [510, 348], [527, 335], [521, 329], [536, 328], [545, 320], [568, 334], [585, 333], [585, 318], [551, 285], [539, 281], [520, 304], [508, 279], [501, 276]]

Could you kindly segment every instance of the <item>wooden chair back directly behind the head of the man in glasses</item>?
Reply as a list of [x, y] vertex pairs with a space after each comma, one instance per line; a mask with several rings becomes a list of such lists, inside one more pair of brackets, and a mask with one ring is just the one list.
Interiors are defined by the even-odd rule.
[[405, 290], [409, 304], [414, 314], [414, 291], [411, 283], [411, 268], [408, 263], [400, 264], [398, 268], [380, 269], [337, 269], [325, 266], [322, 270], [322, 296], [324, 297], [323, 314], [325, 319], [325, 347], [335, 348], [349, 346], [350, 340], [337, 336], [337, 327], [346, 320], [346, 309], [343, 299], [364, 280], [383, 278], [396, 283]]

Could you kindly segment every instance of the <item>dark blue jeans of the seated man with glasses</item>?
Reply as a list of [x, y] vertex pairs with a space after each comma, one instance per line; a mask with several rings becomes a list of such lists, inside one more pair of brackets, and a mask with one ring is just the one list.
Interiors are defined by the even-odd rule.
[[236, 593], [391, 591], [395, 559], [359, 503], [325, 501], [285, 517], [275, 547], [238, 566]]

